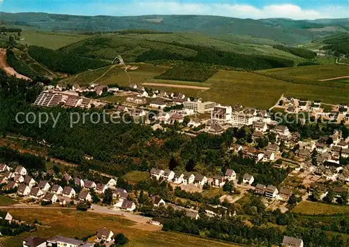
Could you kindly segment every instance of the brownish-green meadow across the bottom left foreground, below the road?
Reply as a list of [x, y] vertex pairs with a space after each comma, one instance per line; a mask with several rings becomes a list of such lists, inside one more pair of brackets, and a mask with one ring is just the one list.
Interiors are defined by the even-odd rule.
[[[200, 239], [177, 232], [149, 232], [133, 227], [129, 220], [117, 216], [101, 215], [75, 211], [70, 209], [10, 209], [14, 218], [20, 218], [27, 222], [34, 222], [38, 219], [43, 226], [39, 227], [33, 234], [38, 237], [50, 238], [55, 235], [66, 237], [85, 237], [95, 234], [101, 227], [107, 227], [114, 233], [123, 233], [130, 240], [126, 247], [191, 247], [191, 246], [216, 246], [216, 247], [237, 247], [235, 244], [225, 244], [209, 239]], [[25, 213], [25, 214], [24, 214]], [[26, 232], [17, 237], [6, 237], [0, 239], [3, 246], [20, 247], [22, 239], [29, 236]], [[181, 239], [181, 241], [178, 241]]]

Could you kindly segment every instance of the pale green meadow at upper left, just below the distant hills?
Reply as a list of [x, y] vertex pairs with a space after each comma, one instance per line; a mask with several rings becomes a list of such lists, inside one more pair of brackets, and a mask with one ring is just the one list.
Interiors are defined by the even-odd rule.
[[19, 41], [19, 43], [26, 45], [38, 45], [50, 49], [58, 49], [90, 37], [91, 36], [88, 35], [75, 33], [24, 31], [22, 32], [22, 38], [24, 38], [24, 40]]

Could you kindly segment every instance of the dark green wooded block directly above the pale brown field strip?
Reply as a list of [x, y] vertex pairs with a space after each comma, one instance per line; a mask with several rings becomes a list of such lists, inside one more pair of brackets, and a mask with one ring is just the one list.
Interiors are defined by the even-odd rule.
[[217, 70], [205, 63], [179, 63], [173, 68], [155, 77], [163, 80], [180, 80], [188, 82], [205, 82]]

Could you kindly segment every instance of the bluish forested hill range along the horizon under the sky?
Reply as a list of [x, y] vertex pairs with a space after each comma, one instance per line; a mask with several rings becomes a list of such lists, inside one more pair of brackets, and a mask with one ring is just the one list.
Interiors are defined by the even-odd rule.
[[[147, 15], [135, 17], [54, 15], [47, 13], [1, 13], [3, 22], [38, 27], [50, 31], [116, 31], [153, 29], [156, 31], [195, 31], [210, 36], [232, 38], [251, 36], [288, 45], [305, 43], [338, 32], [347, 32], [348, 20], [326, 22], [266, 19], [251, 20], [207, 15]], [[331, 27], [331, 28], [329, 28]]]

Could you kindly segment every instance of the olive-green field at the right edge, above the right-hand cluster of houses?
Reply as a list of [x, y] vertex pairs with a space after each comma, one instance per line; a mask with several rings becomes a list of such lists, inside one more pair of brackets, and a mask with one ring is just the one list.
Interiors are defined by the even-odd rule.
[[349, 75], [349, 66], [339, 64], [302, 66], [294, 68], [276, 68], [259, 70], [260, 73], [276, 77], [288, 77], [301, 80], [324, 80]]

